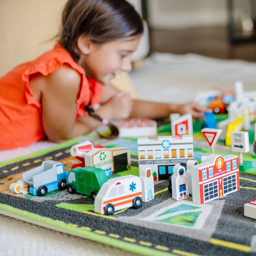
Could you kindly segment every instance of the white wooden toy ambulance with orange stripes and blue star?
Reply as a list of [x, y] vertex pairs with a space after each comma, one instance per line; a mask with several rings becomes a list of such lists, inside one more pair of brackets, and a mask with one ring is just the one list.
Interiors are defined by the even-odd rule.
[[113, 215], [115, 211], [142, 206], [142, 185], [138, 176], [126, 175], [103, 183], [94, 200], [94, 211]]

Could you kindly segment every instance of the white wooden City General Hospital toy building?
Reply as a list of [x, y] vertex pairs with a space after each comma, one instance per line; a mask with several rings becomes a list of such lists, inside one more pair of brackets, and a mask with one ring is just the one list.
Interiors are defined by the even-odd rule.
[[177, 163], [186, 163], [193, 159], [193, 136], [181, 138], [159, 136], [158, 139], [138, 138], [139, 168], [152, 169], [154, 180], [169, 179]]

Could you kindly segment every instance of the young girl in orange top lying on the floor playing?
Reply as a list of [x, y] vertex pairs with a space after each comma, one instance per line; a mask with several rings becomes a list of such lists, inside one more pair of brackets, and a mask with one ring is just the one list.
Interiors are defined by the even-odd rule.
[[174, 112], [199, 118], [205, 109], [197, 103], [132, 100], [111, 86], [131, 71], [142, 33], [141, 17], [125, 0], [69, 0], [54, 49], [0, 79], [0, 149], [61, 142], [114, 119]]

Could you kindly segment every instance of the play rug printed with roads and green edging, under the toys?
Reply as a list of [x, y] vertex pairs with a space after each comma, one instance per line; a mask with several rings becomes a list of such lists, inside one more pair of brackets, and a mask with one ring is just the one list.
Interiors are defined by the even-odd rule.
[[[158, 127], [159, 135], [170, 135], [170, 123]], [[70, 147], [90, 140], [93, 145], [125, 146], [131, 150], [132, 168], [116, 175], [138, 175], [137, 139], [99, 139], [96, 134], [77, 138], [30, 156], [0, 163], [0, 213], [50, 229], [99, 241], [144, 255], [254, 255], [255, 220], [244, 216], [244, 204], [256, 199], [254, 169], [240, 172], [240, 190], [205, 204], [190, 196], [175, 201], [168, 181], [155, 181], [155, 198], [140, 209], [124, 209], [113, 216], [96, 214], [93, 200], [81, 194], [56, 190], [45, 197], [14, 194], [9, 185], [24, 171], [52, 159], [68, 171], [78, 160]], [[230, 154], [230, 147], [218, 143], [216, 154]], [[194, 156], [200, 159], [210, 148], [200, 133], [194, 134]], [[255, 159], [248, 155], [247, 160]], [[245, 159], [244, 158], [244, 159]]]

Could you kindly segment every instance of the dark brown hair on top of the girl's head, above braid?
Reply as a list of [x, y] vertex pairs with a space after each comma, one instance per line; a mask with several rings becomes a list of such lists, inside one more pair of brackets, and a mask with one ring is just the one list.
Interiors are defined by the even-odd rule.
[[140, 15], [125, 0], [69, 0], [62, 12], [59, 43], [78, 62], [80, 35], [101, 44], [142, 33]]

